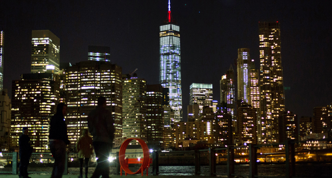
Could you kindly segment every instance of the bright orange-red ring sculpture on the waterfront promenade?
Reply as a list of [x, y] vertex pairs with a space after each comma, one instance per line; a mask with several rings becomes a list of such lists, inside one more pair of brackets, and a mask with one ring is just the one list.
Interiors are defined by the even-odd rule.
[[[136, 172], [132, 172], [130, 169], [129, 169], [129, 164], [126, 162], [125, 158], [126, 158], [126, 149], [127, 149], [127, 146], [128, 144], [132, 141], [132, 140], [137, 140], [140, 144], [140, 146], [142, 147], [143, 149], [143, 156], [144, 156], [144, 159], [143, 159], [143, 163], [142, 165], [140, 166], [140, 168], [136, 171]], [[149, 164], [150, 164], [150, 153], [149, 153], [149, 147], [148, 145], [145, 143], [145, 141], [143, 141], [142, 139], [139, 139], [139, 138], [128, 138], [126, 139], [121, 147], [120, 147], [120, 152], [119, 152], [119, 160], [120, 160], [120, 165], [122, 167], [122, 169], [128, 173], [128, 174], [137, 174], [137, 173], [142, 173], [143, 174], [143, 171], [144, 169], [148, 168]]]

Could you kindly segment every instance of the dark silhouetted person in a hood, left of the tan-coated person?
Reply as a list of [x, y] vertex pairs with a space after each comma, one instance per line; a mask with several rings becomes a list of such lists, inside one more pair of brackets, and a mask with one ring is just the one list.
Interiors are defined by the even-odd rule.
[[64, 171], [66, 144], [69, 144], [67, 125], [64, 116], [67, 115], [67, 105], [59, 103], [57, 112], [50, 121], [50, 150], [54, 158], [51, 178], [61, 178]]

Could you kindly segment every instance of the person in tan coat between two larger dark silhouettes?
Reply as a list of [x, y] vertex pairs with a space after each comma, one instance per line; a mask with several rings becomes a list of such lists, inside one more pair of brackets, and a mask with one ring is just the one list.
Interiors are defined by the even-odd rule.
[[76, 149], [78, 151], [78, 158], [80, 160], [80, 175], [78, 177], [79, 178], [83, 177], [83, 160], [84, 160], [85, 178], [87, 178], [89, 160], [91, 158], [91, 154], [93, 151], [92, 138], [89, 136], [89, 131], [87, 129], [83, 130], [82, 136], [78, 139], [76, 143]]

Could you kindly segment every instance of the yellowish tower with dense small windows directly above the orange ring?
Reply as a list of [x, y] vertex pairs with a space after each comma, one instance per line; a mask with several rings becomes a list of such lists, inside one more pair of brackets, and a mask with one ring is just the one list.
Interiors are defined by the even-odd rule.
[[143, 78], [137, 78], [137, 75], [133, 74], [133, 77], [123, 75], [122, 83], [123, 137], [148, 141], [147, 81]]

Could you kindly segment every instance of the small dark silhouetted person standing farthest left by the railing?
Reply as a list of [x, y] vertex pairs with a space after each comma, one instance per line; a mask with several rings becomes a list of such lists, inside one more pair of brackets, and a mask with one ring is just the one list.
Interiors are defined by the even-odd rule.
[[23, 133], [19, 137], [18, 144], [19, 144], [19, 178], [31, 178], [28, 176], [28, 165], [29, 160], [33, 151], [31, 147], [32, 141], [28, 136], [29, 129], [28, 127], [23, 127]]

